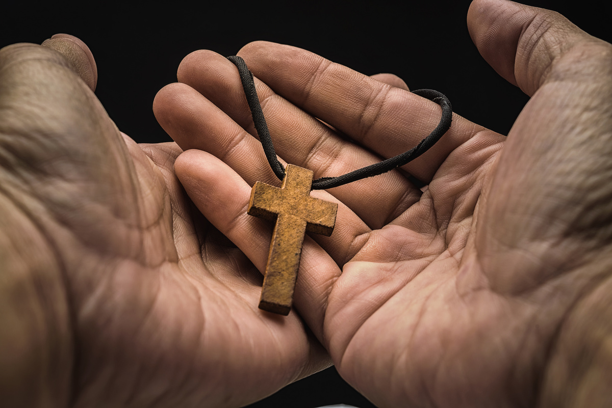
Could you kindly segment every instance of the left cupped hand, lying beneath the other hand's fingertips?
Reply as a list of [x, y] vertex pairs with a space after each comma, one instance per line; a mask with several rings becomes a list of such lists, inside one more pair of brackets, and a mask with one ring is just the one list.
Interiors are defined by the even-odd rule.
[[299, 316], [92, 92], [69, 35], [0, 51], [3, 407], [237, 407], [329, 365]]

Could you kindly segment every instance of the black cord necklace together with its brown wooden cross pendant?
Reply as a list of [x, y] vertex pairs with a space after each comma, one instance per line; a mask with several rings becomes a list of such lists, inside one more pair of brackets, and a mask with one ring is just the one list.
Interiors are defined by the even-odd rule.
[[244, 94], [253, 115], [253, 123], [255, 123], [255, 129], [266, 153], [267, 161], [277, 177], [283, 181], [282, 188], [257, 181], [251, 191], [247, 213], [275, 222], [259, 308], [286, 316], [291, 311], [293, 302], [304, 234], [309, 231], [330, 236], [336, 222], [338, 204], [311, 197], [310, 191], [338, 187], [362, 178], [386, 173], [416, 159], [431, 148], [449, 129], [452, 108], [449, 100], [442, 93], [431, 89], [413, 91], [417, 95], [435, 101], [442, 107], [440, 123], [429, 136], [421, 140], [416, 147], [401, 155], [345, 175], [321, 177], [313, 181], [312, 170], [293, 164], [288, 164], [285, 170], [278, 161], [270, 131], [266, 125], [266, 118], [259, 104], [253, 74], [241, 57], [231, 56], [228, 59], [238, 68]]

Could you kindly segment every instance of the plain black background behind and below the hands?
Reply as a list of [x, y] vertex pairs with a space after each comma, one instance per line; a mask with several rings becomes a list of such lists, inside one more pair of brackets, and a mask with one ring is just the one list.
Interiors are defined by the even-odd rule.
[[[367, 75], [390, 72], [411, 89], [445, 93], [453, 110], [507, 134], [524, 103], [469, 38], [469, 1], [419, 2], [12, 2], [0, 7], [0, 47], [41, 43], [58, 32], [91, 48], [96, 93], [119, 129], [138, 142], [170, 141], [155, 121], [157, 90], [176, 81], [181, 59], [196, 49], [236, 54], [253, 40], [309, 49]], [[612, 41], [611, 6], [603, 0], [531, 0], [596, 37]], [[289, 385], [252, 407], [373, 407], [334, 368]]]

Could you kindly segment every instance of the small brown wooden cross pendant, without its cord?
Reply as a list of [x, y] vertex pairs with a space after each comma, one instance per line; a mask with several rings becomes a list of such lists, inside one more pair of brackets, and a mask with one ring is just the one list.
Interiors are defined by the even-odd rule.
[[257, 181], [247, 213], [276, 221], [259, 308], [288, 315], [306, 231], [332, 235], [337, 203], [310, 197], [312, 170], [288, 164], [282, 188]]

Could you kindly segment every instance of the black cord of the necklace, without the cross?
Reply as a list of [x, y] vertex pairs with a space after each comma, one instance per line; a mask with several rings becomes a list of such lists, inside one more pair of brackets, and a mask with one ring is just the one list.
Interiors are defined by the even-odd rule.
[[[278, 177], [280, 180], [283, 180], [283, 178], [285, 178], [285, 168], [283, 167], [281, 162], [278, 161], [276, 151], [274, 150], [274, 145], [272, 144], [272, 137], [270, 136], [270, 131], [268, 130], [268, 127], [266, 125], [266, 118], [264, 118], [264, 114], [261, 109], [261, 104], [259, 104], [259, 98], [255, 90], [255, 81], [253, 81], [253, 73], [248, 70], [247, 64], [241, 57], [231, 56], [227, 58], [228, 60], [233, 62], [233, 64], [236, 65], [236, 67], [238, 68], [238, 73], [242, 82], [242, 88], [244, 89], [244, 95], [247, 98], [248, 107], [251, 109], [251, 114], [253, 116], [253, 124], [255, 125], [259, 140], [261, 140], [261, 146], [264, 149], [267, 161], [269, 162], [270, 167], [272, 167], [272, 170], [274, 171], [276, 177]], [[334, 188], [342, 186], [344, 184], [352, 183], [353, 181], [362, 180], [363, 178], [373, 177], [379, 174], [386, 173], [389, 170], [404, 166], [405, 164], [416, 159], [417, 157], [425, 153], [425, 151], [433, 147], [433, 145], [435, 145], [436, 142], [438, 142], [438, 140], [440, 140], [441, 137], [444, 136], [446, 131], [450, 128], [450, 124], [452, 122], [453, 110], [449, 98], [447, 98], [444, 94], [438, 92], [437, 90], [433, 89], [417, 89], [413, 90], [412, 93], [414, 93], [415, 95], [419, 95], [420, 97], [427, 98], [428, 100], [434, 101], [442, 108], [442, 116], [440, 118], [438, 126], [436, 126], [436, 128], [433, 129], [433, 131], [427, 137], [425, 137], [425, 139], [421, 140], [419, 144], [417, 144], [410, 150], [401, 153], [401, 155], [385, 159], [375, 164], [370, 164], [370, 166], [362, 167], [361, 169], [354, 170], [338, 177], [318, 178], [312, 182], [312, 189], [323, 190]]]

